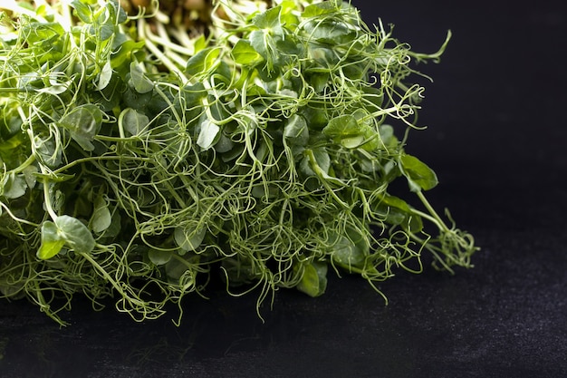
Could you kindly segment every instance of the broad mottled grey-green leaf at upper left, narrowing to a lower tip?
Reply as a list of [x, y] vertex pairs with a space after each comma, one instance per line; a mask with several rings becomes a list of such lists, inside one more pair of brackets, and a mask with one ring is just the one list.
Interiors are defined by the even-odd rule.
[[59, 121], [60, 126], [71, 132], [71, 137], [83, 150], [94, 150], [91, 141], [101, 129], [102, 111], [95, 105], [80, 105]]

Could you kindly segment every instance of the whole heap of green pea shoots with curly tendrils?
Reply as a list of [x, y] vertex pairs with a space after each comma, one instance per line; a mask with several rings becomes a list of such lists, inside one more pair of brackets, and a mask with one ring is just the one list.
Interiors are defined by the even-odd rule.
[[470, 267], [473, 237], [404, 151], [410, 63], [450, 34], [415, 53], [337, 0], [218, 0], [202, 30], [157, 1], [2, 6], [1, 296], [62, 324], [75, 294], [112, 296], [144, 320], [212, 282], [259, 306], [322, 295], [330, 270], [378, 290], [423, 252]]

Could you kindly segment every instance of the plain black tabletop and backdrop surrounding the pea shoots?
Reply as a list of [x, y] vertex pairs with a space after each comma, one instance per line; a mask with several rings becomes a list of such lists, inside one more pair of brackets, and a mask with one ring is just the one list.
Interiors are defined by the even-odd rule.
[[[432, 268], [380, 285], [332, 278], [327, 294], [212, 294], [137, 324], [77, 299], [60, 329], [0, 302], [2, 377], [567, 377], [567, 12], [561, 2], [352, 0], [412, 49], [453, 32], [408, 152], [429, 192], [482, 250], [456, 276]], [[508, 3], [508, 4], [506, 4]]]

